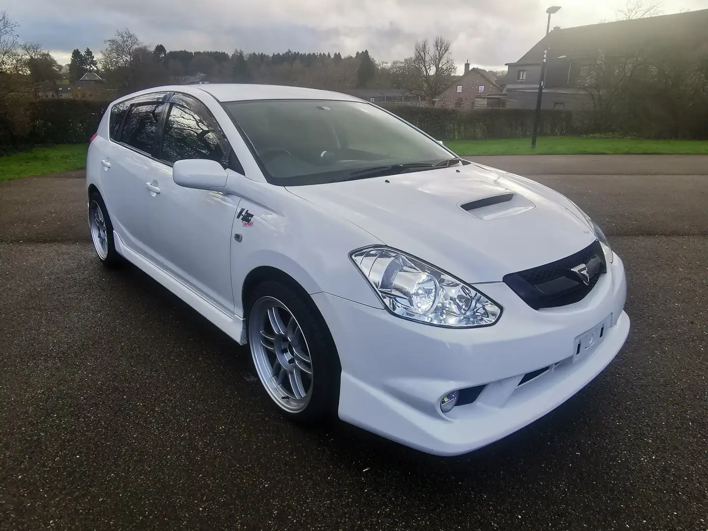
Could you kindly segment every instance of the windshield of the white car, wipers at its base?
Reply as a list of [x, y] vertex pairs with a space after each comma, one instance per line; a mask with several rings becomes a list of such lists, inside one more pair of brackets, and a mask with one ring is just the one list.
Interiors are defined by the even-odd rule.
[[395, 116], [357, 101], [224, 103], [266, 178], [307, 185], [447, 166], [452, 153]]

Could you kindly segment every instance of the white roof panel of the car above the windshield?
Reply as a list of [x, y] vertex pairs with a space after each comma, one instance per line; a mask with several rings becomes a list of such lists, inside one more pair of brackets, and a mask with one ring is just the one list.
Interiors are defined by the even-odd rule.
[[249, 100], [343, 100], [361, 101], [359, 98], [332, 91], [305, 89], [301, 86], [252, 85], [239, 83], [217, 83], [200, 85], [156, 86], [152, 89], [127, 94], [117, 101], [135, 98], [155, 92], [181, 92], [199, 97], [200, 93], [209, 93], [221, 102]]

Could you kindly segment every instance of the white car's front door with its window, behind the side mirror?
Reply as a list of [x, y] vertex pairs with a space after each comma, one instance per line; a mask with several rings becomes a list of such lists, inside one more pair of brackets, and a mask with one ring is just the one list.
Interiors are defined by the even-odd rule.
[[172, 164], [178, 160], [212, 159], [228, 167], [230, 152], [205, 105], [190, 96], [173, 96], [161, 149], [151, 161], [147, 226], [149, 259], [222, 312], [234, 315], [231, 245], [239, 198], [183, 188], [172, 179]]

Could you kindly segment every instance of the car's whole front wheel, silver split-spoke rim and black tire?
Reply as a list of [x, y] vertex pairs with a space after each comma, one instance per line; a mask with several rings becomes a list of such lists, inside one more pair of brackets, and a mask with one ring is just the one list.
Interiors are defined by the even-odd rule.
[[267, 281], [253, 288], [247, 307], [253, 365], [270, 399], [293, 421], [314, 425], [333, 417], [341, 365], [312, 299], [304, 290]]

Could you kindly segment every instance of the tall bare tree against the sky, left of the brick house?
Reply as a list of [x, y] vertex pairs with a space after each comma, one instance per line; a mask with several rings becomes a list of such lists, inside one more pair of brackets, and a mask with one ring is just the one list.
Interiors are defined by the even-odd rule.
[[452, 84], [457, 72], [455, 61], [450, 55], [450, 41], [438, 36], [432, 47], [427, 39], [416, 42], [413, 67], [417, 74], [417, 86], [413, 88], [422, 91], [428, 102], [433, 103]]

